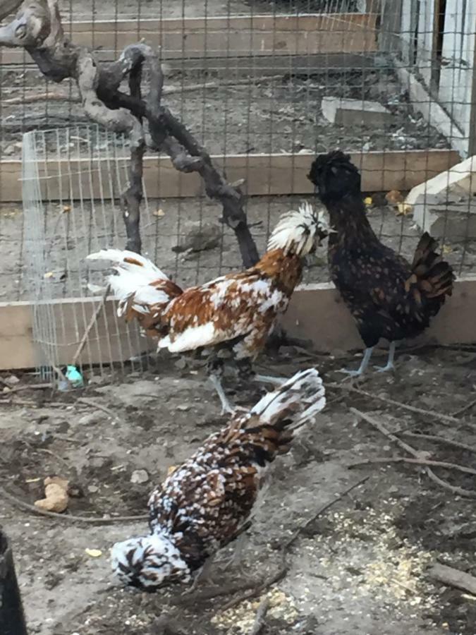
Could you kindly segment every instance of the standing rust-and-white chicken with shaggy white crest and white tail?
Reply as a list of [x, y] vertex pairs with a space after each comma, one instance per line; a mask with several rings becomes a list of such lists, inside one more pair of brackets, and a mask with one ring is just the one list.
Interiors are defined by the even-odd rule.
[[210, 352], [207, 371], [224, 412], [233, 412], [221, 385], [224, 358], [238, 375], [279, 385], [278, 377], [256, 375], [252, 362], [264, 349], [278, 317], [286, 311], [303, 273], [303, 258], [327, 236], [323, 212], [305, 202], [281, 216], [267, 252], [253, 267], [189, 289], [181, 289], [150, 260], [136, 253], [105, 249], [88, 260], [110, 260], [109, 285], [118, 298], [118, 315], [138, 320], [142, 331], [173, 353]]

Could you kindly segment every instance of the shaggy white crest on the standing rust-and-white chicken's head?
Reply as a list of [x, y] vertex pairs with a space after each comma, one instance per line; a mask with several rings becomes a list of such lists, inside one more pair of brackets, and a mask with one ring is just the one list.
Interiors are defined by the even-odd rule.
[[268, 251], [283, 249], [286, 253], [304, 256], [314, 245], [317, 217], [310, 202], [303, 202], [298, 211], [290, 210], [281, 216], [269, 237]]

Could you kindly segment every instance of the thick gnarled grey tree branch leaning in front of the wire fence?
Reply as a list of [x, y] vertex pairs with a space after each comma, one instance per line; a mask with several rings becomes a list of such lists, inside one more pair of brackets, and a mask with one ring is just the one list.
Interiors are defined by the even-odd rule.
[[[243, 193], [219, 174], [208, 152], [192, 133], [161, 105], [164, 77], [157, 53], [145, 44], [127, 47], [118, 61], [99, 64], [94, 53], [66, 39], [57, 0], [0, 0], [0, 16], [20, 6], [16, 17], [0, 28], [0, 45], [23, 47], [32, 56], [43, 75], [56, 83], [73, 78], [87, 116], [130, 141], [130, 183], [123, 193], [123, 216], [128, 236], [127, 248], [140, 251], [140, 203], [142, 201], [142, 158], [146, 141], [143, 119], [149, 124], [152, 150], [166, 152], [176, 169], [197, 172], [210, 198], [221, 202], [223, 222], [235, 231], [245, 267], [259, 256], [246, 215]], [[151, 85], [142, 99], [142, 67], [147, 64]], [[119, 90], [128, 78], [129, 94]]]

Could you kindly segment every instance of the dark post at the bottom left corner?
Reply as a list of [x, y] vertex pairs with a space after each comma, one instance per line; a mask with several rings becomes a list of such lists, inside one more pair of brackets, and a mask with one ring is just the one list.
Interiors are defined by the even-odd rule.
[[23, 604], [8, 538], [0, 529], [0, 633], [27, 635]]

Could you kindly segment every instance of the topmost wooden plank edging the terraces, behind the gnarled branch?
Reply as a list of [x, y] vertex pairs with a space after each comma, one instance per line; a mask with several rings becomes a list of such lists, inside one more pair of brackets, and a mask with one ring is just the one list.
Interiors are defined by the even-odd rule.
[[[169, 59], [366, 53], [377, 49], [375, 13], [231, 16], [169, 20], [74, 22], [65, 32], [97, 50], [102, 61], [142, 38]], [[4, 50], [1, 63], [23, 63], [20, 50]]]

